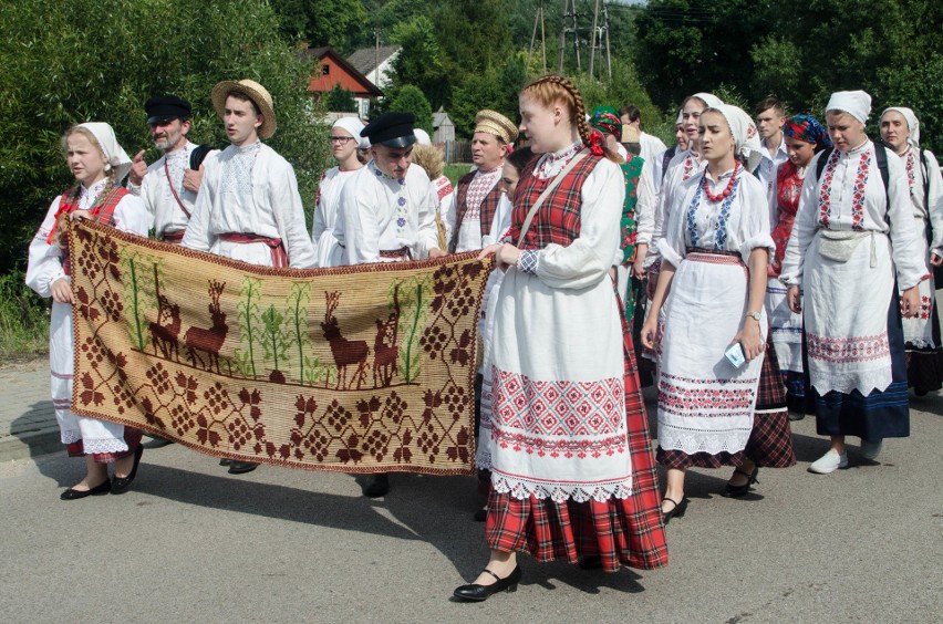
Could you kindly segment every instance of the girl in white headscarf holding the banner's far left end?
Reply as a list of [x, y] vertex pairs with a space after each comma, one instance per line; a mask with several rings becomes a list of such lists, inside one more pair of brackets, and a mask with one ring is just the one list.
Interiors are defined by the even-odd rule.
[[[85, 478], [61, 495], [62, 500], [75, 500], [125, 491], [134, 480], [144, 448], [138, 429], [86, 418], [71, 410], [74, 299], [63, 231], [65, 220], [94, 219], [146, 237], [151, 217], [138, 197], [118, 186], [131, 170], [131, 158], [108, 124], [73, 126], [63, 135], [62, 147], [79, 184], [52, 201], [30, 243], [27, 285], [40, 297], [52, 297], [53, 301], [49, 329], [52, 404], [69, 455], [85, 457]], [[108, 464], [115, 465], [114, 479], [108, 479]]]

